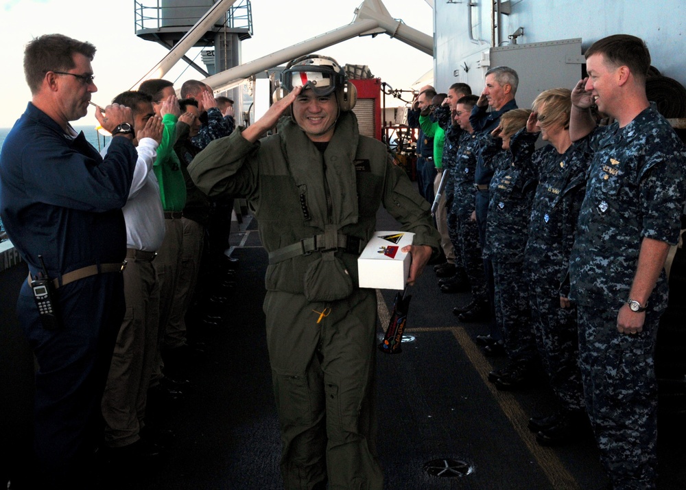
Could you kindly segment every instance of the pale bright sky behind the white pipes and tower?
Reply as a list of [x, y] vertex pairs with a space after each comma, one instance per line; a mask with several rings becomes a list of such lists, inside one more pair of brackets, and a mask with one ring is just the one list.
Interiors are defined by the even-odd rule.
[[[156, 5], [156, 0], [139, 0]], [[324, 34], [351, 23], [362, 0], [252, 0], [253, 36], [241, 43], [242, 60], [248, 62], [289, 45]], [[383, 0], [395, 19], [429, 36], [433, 33], [433, 12], [424, 0]], [[322, 5], [326, 5], [322, 8]], [[92, 0], [0, 0], [0, 54], [5, 93], [5, 109], [0, 113], [0, 128], [11, 127], [24, 112], [31, 93], [23, 74], [23, 49], [42, 34], [59, 33], [86, 40], [97, 48], [93, 72], [97, 93], [93, 102], [106, 106], [115, 95], [129, 90], [167, 53], [152, 41], [135, 34], [134, 2], [115, 0], [106, 4]], [[190, 51], [196, 56], [200, 49]], [[353, 38], [320, 50], [341, 65], [368, 65], [373, 75], [393, 89], [410, 89], [432, 68], [431, 56], [405, 45], [386, 34], [375, 38]], [[202, 66], [200, 56], [196, 59]], [[185, 80], [202, 78], [180, 60], [165, 75], [177, 88]], [[386, 97], [388, 106], [392, 104]], [[93, 110], [72, 124], [95, 124]]]

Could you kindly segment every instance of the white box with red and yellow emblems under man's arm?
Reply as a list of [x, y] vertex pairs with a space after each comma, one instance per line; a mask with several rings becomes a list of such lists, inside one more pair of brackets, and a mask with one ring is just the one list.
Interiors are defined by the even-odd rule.
[[410, 254], [401, 252], [412, 245], [414, 233], [376, 231], [357, 258], [360, 288], [405, 289], [410, 275]]

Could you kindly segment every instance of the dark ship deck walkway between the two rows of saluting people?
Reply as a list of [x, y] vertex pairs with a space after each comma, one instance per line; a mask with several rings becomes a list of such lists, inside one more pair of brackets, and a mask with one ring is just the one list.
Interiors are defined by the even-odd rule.
[[[397, 229], [397, 224], [382, 210], [377, 229]], [[97, 488], [281, 488], [279, 431], [261, 307], [267, 254], [250, 218], [233, 223], [230, 242], [231, 255], [240, 262], [232, 278], [237, 285], [221, 307], [224, 320], [208, 327], [189, 318], [189, 340], [203, 349], [184, 373], [189, 387], [176, 401], [149, 407], [150, 417], [176, 434], [168, 453], [137, 471], [103, 465]], [[16, 266], [0, 274], [0, 477], [11, 480], [30, 445], [33, 362], [10, 312], [25, 271]], [[384, 488], [604, 489], [606, 476], [590, 434], [551, 448], [538, 445], [528, 430], [532, 414], [554, 408], [543, 376], [530, 388], [511, 393], [488, 382], [488, 372], [505, 360], [486, 358], [475, 345], [475, 336], [485, 334], [486, 325], [460, 324], [451, 314], [454, 306], [469, 303], [469, 294], [441, 294], [431, 268], [410, 292], [405, 334], [414, 340], [403, 343], [400, 354], [377, 355]], [[378, 296], [378, 331], [383, 336], [394, 292]], [[11, 302], [5, 301], [8, 298]], [[685, 419], [674, 406], [661, 411], [661, 490], [686, 485]], [[437, 465], [447, 471], [431, 471]]]

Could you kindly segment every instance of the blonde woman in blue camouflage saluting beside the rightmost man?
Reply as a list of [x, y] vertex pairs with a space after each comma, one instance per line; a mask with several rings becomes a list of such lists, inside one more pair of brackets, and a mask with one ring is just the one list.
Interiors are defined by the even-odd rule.
[[536, 441], [543, 445], [573, 441], [583, 433], [580, 428], [588, 426], [578, 366], [576, 307], [567, 299], [569, 283], [564, 279], [591, 153], [584, 140], [572, 144], [570, 113], [571, 91], [551, 89], [536, 97], [527, 123], [529, 132], [540, 132], [541, 139], [549, 142], [532, 156], [539, 186], [525, 250], [536, 344], [560, 407], [554, 415], [529, 421]]

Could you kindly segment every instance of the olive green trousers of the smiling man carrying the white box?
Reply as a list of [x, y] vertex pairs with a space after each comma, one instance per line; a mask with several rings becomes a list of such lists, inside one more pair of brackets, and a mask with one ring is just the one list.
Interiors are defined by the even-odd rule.
[[285, 489], [313, 488], [328, 477], [332, 490], [380, 490], [375, 292], [309, 303], [270, 291], [264, 310]]

